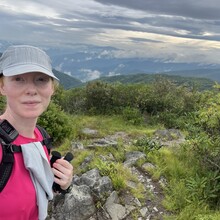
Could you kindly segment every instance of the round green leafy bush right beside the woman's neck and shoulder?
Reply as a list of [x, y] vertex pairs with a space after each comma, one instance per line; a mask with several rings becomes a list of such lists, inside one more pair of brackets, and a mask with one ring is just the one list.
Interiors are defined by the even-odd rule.
[[55, 146], [58, 146], [65, 138], [70, 138], [72, 135], [70, 116], [53, 102], [50, 103], [47, 111], [40, 116], [38, 124], [44, 127], [50, 136], [53, 137]]

